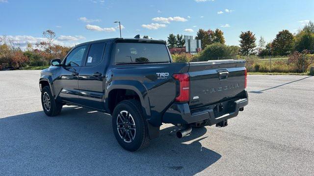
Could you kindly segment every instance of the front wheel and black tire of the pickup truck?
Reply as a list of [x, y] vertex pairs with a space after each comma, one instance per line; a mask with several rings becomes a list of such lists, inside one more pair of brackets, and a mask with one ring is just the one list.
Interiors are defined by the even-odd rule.
[[[47, 99], [47, 96], [49, 100]], [[47, 104], [50, 105], [49, 108]], [[62, 104], [54, 100], [49, 86], [45, 86], [41, 91], [41, 105], [45, 114], [48, 116], [56, 116], [60, 114], [62, 109]]]

